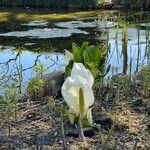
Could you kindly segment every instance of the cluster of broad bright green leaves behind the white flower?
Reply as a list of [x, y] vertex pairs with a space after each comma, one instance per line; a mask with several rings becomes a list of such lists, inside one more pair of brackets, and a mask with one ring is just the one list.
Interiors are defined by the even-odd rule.
[[96, 45], [89, 45], [88, 42], [84, 42], [81, 47], [77, 44], [72, 44], [72, 53], [74, 60], [70, 61], [66, 67], [66, 74], [69, 75], [73, 66], [73, 62], [83, 63], [84, 66], [89, 69], [94, 75], [95, 79], [100, 80], [110, 70], [110, 65], [106, 68], [105, 61], [107, 57], [106, 48], [99, 48]]

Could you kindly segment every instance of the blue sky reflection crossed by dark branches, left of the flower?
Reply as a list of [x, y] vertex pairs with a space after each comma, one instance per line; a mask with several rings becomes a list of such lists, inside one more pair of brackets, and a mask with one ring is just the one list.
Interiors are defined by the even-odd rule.
[[0, 51], [0, 91], [3, 85], [11, 83], [19, 74], [22, 75], [22, 85], [25, 87], [29, 78], [36, 76], [33, 68], [40, 61], [47, 66], [45, 73], [64, 70], [65, 60], [61, 53], [33, 53], [30, 51], [15, 51], [14, 47], [2, 47]]

